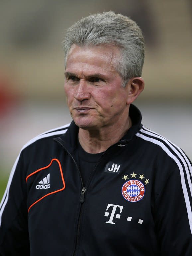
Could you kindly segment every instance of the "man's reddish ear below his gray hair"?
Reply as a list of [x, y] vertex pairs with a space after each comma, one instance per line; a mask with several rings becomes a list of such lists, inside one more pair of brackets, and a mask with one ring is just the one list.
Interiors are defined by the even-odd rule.
[[144, 89], [144, 80], [141, 77], [130, 78], [127, 83], [128, 98], [127, 104], [131, 104]]

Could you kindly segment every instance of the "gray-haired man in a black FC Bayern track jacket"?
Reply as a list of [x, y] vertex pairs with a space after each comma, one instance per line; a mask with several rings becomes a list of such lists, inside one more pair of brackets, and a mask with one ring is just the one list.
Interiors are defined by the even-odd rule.
[[192, 255], [192, 166], [141, 124], [144, 39], [113, 12], [66, 33], [72, 123], [29, 141], [0, 208], [0, 255]]

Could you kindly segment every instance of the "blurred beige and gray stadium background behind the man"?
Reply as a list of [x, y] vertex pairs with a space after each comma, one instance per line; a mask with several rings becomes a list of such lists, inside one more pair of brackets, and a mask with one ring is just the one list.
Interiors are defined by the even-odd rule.
[[0, 199], [22, 146], [71, 121], [62, 39], [89, 14], [131, 17], [146, 41], [142, 123], [192, 159], [191, 0], [0, 0]]

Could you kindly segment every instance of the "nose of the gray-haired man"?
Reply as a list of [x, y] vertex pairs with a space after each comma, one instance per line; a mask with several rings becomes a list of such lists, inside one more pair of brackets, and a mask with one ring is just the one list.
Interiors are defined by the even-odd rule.
[[76, 85], [74, 98], [81, 102], [91, 98], [91, 93], [88, 91], [87, 82], [85, 80], [81, 79], [78, 85]]

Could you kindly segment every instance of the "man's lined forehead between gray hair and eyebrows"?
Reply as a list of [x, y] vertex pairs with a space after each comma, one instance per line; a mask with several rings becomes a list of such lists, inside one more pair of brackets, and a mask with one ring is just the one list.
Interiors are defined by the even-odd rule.
[[120, 57], [117, 46], [99, 45], [80, 47], [72, 45], [67, 58], [66, 72], [79, 71], [116, 72], [115, 63]]

